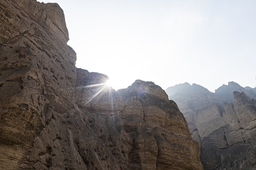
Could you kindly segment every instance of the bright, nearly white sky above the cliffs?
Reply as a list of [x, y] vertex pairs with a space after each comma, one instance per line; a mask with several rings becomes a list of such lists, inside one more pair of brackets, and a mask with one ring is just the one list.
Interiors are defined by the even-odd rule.
[[39, 0], [64, 10], [77, 68], [163, 89], [256, 85], [255, 0]]

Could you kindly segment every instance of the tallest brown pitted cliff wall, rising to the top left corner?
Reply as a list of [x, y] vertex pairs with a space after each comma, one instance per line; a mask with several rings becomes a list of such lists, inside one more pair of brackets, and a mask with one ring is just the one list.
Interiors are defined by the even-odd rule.
[[51, 110], [74, 108], [76, 55], [67, 41], [57, 4], [0, 1], [0, 169], [23, 166]]

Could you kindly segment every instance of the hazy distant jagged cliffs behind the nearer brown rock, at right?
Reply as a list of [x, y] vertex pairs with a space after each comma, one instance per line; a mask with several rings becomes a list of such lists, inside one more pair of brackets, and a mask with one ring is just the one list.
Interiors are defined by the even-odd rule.
[[256, 168], [256, 97], [254, 88], [237, 83], [211, 93], [184, 83], [166, 89], [186, 118], [201, 147], [204, 170]]

